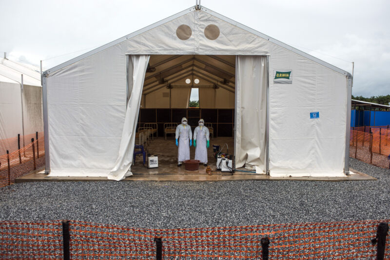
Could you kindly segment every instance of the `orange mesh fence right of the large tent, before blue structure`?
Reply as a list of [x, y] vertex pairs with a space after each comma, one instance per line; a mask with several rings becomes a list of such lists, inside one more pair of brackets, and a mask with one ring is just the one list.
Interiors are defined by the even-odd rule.
[[390, 128], [351, 128], [350, 157], [375, 166], [390, 168]]

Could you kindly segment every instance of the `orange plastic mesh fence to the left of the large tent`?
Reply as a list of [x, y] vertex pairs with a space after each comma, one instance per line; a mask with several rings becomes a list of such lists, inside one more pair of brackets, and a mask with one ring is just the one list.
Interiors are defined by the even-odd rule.
[[[34, 142], [31, 142], [31, 138], [34, 138]], [[45, 165], [43, 133], [38, 140], [31, 138], [24, 148], [0, 154], [0, 187], [10, 185], [16, 178]]]

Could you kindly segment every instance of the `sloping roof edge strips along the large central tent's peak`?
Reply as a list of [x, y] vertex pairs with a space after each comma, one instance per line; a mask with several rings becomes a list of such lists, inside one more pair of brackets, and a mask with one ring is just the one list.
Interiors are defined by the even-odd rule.
[[223, 21], [225, 21], [227, 23], [230, 23], [232, 26], [236, 26], [238, 28], [241, 28], [241, 29], [243, 29], [243, 30], [245, 30], [245, 31], [247, 31], [247, 32], [257, 36], [257, 37], [260, 37], [260, 38], [263, 38], [263, 39], [265, 39], [267, 41], [270, 41], [273, 44], [275, 44], [277, 46], [280, 46], [280, 47], [282, 47], [284, 49], [287, 49], [287, 50], [289, 50], [289, 51], [291, 51], [293, 53], [296, 53], [296, 54], [298, 54], [300, 56], [306, 57], [306, 58], [308, 58], [308, 59], [310, 59], [310, 60], [312, 60], [312, 61], [314, 61], [314, 62], [316, 62], [318, 64], [321, 64], [321, 65], [323, 65], [323, 66], [325, 66], [325, 67], [335, 71], [335, 72], [338, 72], [338, 73], [344, 74], [344, 75], [351, 75], [350, 73], [348, 73], [348, 72], [346, 72], [344, 70], [341, 70], [341, 69], [339, 69], [339, 68], [337, 68], [337, 67], [335, 67], [335, 66], [333, 66], [333, 65], [331, 65], [331, 64], [329, 64], [329, 63], [327, 63], [327, 62], [325, 62], [323, 60], [320, 60], [320, 59], [318, 59], [318, 58], [316, 58], [314, 56], [311, 56], [311, 55], [309, 55], [307, 53], [304, 53], [304, 52], [302, 52], [302, 51], [300, 51], [298, 49], [295, 49], [295, 48], [293, 48], [293, 47], [291, 47], [291, 46], [289, 46], [289, 45], [287, 45], [287, 44], [285, 44], [283, 42], [280, 42], [280, 41], [278, 41], [276, 39], [273, 39], [272, 37], [269, 37], [269, 36], [264, 35], [264, 34], [262, 34], [260, 32], [257, 32], [254, 29], [251, 29], [251, 28], [249, 28], [249, 27], [247, 27], [247, 26], [245, 26], [245, 25], [243, 25], [241, 23], [238, 23], [238, 22], [236, 22], [236, 21], [234, 21], [232, 19], [224, 17], [224, 16], [222, 16], [222, 15], [220, 15], [218, 13], [215, 13], [214, 11], [212, 11], [212, 10], [210, 10], [210, 9], [204, 7], [204, 6], [198, 6], [197, 7], [196, 5], [191, 7], [191, 8], [188, 8], [188, 9], [186, 9], [186, 10], [180, 12], [180, 13], [177, 13], [176, 15], [173, 15], [173, 16], [170, 16], [170, 17], [168, 17], [166, 19], [160, 20], [160, 21], [158, 21], [158, 22], [156, 22], [154, 24], [151, 24], [151, 25], [149, 25], [149, 26], [147, 26], [147, 27], [145, 27], [143, 29], [140, 29], [140, 30], [138, 30], [138, 31], [136, 31], [134, 33], [131, 33], [131, 34], [126, 35], [124, 37], [121, 37], [121, 38], [119, 38], [117, 40], [114, 40], [114, 41], [112, 41], [110, 43], [107, 43], [107, 44], [105, 44], [105, 45], [103, 45], [101, 47], [98, 47], [95, 50], [92, 50], [92, 51], [87, 52], [87, 53], [85, 53], [85, 54], [83, 54], [81, 56], [78, 56], [78, 57], [73, 58], [73, 59], [71, 59], [69, 61], [66, 61], [66, 62], [64, 62], [62, 64], [59, 64], [58, 66], [55, 66], [55, 67], [47, 70], [44, 74], [51, 74], [51, 73], [53, 73], [55, 71], [58, 71], [58, 70], [60, 70], [60, 69], [62, 69], [64, 67], [68, 66], [68, 65], [71, 65], [71, 64], [73, 64], [73, 63], [75, 63], [75, 62], [77, 62], [79, 60], [82, 60], [82, 59], [84, 59], [84, 58], [86, 58], [88, 56], [92, 56], [94, 54], [97, 54], [97, 53], [99, 53], [99, 52], [101, 52], [101, 51], [103, 51], [105, 49], [108, 49], [108, 48], [110, 48], [112, 46], [115, 46], [115, 45], [117, 45], [117, 44], [119, 44], [121, 42], [124, 42], [124, 41], [126, 41], [126, 40], [128, 40], [130, 38], [136, 37], [136, 36], [138, 36], [138, 35], [140, 35], [142, 33], [145, 33], [145, 32], [147, 32], [149, 30], [152, 30], [152, 29], [154, 29], [154, 28], [156, 28], [156, 27], [158, 27], [160, 25], [163, 25], [163, 24], [165, 24], [167, 22], [170, 22], [170, 21], [172, 21], [174, 19], [177, 19], [177, 18], [179, 18], [181, 16], [184, 16], [186, 14], [189, 14], [191, 12], [195, 12], [195, 11], [198, 11], [198, 10], [203, 11], [205, 13], [208, 13], [209, 15], [212, 15], [212, 16], [214, 16], [214, 17], [216, 17], [218, 19], [221, 19], [221, 20], [223, 20]]

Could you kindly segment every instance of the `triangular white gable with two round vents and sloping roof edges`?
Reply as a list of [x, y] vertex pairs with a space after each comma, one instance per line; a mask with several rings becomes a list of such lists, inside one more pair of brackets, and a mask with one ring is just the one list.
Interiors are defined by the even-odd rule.
[[51, 74], [83, 58], [114, 46], [124, 54], [159, 55], [270, 55], [283, 48], [343, 75], [349, 73], [310, 56], [278, 40], [261, 34], [210, 9], [195, 6], [163, 19], [137, 32], [121, 37], [86, 54], [64, 62], [45, 74]]

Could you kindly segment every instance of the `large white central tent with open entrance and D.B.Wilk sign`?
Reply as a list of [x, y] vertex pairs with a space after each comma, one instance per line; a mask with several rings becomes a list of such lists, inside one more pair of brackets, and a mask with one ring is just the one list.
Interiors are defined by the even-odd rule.
[[46, 172], [131, 175], [140, 106], [187, 106], [158, 93], [187, 76], [214, 85], [205, 107], [234, 106], [236, 167], [348, 174], [351, 75], [198, 5], [44, 72]]

